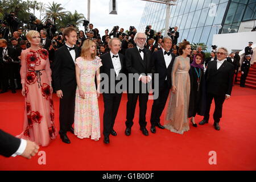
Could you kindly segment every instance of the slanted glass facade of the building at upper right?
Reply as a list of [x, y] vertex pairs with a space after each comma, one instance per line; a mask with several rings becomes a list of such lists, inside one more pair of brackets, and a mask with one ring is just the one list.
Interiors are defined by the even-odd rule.
[[[256, 19], [256, 0], [178, 0], [171, 6], [170, 27], [178, 27], [178, 42], [212, 46], [213, 34], [238, 32], [241, 21]], [[156, 32], [164, 32], [166, 5], [147, 2], [138, 30], [152, 25]]]

